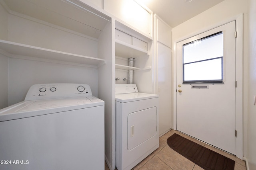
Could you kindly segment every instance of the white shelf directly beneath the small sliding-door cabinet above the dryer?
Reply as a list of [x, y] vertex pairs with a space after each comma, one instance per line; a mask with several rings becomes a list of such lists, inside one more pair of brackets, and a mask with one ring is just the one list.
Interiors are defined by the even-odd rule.
[[148, 51], [140, 49], [134, 45], [124, 43], [116, 39], [116, 56], [124, 58], [136, 58], [142, 55], [147, 55]]

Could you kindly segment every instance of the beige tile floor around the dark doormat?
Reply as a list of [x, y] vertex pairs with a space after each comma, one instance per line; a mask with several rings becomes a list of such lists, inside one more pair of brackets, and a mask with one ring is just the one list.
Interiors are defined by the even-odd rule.
[[[203, 170], [200, 166], [194, 164], [184, 156], [178, 154], [167, 145], [166, 140], [174, 133], [177, 133], [206, 148], [214, 150], [215, 152], [218, 152], [232, 160], [235, 160], [235, 170], [246, 170], [245, 162], [243, 160], [240, 160], [239, 158], [236, 158], [236, 156], [223, 152], [222, 150], [216, 149], [210, 145], [202, 143], [201, 141], [193, 139], [174, 130], [171, 130], [162, 137], [160, 137], [159, 148], [152, 152], [148, 157], [142, 160], [134, 168], [132, 168], [132, 170]], [[105, 170], [109, 170], [106, 162]]]

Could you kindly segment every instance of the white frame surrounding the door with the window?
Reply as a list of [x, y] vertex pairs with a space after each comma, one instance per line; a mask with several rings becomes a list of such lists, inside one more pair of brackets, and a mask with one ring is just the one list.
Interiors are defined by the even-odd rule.
[[234, 18], [229, 19], [228, 21], [222, 21], [219, 24], [213, 25], [208, 28], [204, 28], [196, 33], [188, 35], [178, 41], [174, 41], [174, 57], [173, 57], [173, 129], [177, 130], [177, 51], [176, 45], [178, 42], [198, 35], [200, 33], [209, 31], [213, 28], [219, 27], [230, 21], [236, 21], [236, 157], [243, 159], [243, 14], [235, 16]]

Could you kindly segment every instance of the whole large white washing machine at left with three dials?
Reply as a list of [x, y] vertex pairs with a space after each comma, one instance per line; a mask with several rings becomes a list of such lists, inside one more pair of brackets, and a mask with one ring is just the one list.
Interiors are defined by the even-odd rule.
[[104, 101], [87, 84], [36, 84], [0, 110], [1, 170], [104, 170]]

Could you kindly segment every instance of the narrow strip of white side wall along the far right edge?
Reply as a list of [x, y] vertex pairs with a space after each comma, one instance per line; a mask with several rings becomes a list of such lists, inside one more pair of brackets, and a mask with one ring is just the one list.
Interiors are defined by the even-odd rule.
[[[256, 169], [256, 106], [253, 95], [256, 95], [256, 1], [249, 0], [249, 76], [248, 76], [248, 153], [250, 170]], [[246, 107], [246, 106], [245, 106]]]

